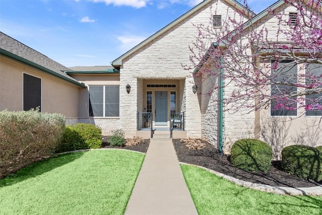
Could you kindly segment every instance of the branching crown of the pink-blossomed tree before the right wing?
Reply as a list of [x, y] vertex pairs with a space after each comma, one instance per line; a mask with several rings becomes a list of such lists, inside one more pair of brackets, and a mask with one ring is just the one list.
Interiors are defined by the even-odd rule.
[[232, 112], [270, 105], [273, 115], [296, 116], [297, 108], [313, 115], [321, 111], [321, 0], [284, 0], [257, 16], [243, 4], [244, 10], [227, 12], [220, 28], [213, 24], [217, 9], [208, 24], [195, 25], [199, 35], [185, 68], [197, 67], [194, 76], [201, 79], [221, 71], [222, 87], [233, 86], [223, 100]]

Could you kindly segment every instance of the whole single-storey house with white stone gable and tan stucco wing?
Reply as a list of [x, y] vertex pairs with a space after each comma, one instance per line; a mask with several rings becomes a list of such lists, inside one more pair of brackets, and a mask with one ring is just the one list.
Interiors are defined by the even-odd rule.
[[[271, 8], [279, 9], [283, 4], [278, 1]], [[189, 44], [198, 35], [194, 24], [209, 23], [211, 12], [216, 11], [212, 25], [218, 29], [229, 22], [227, 15], [245, 22], [252, 17], [254, 22], [276, 25], [273, 18], [266, 19], [266, 11], [257, 16], [250, 11], [236, 13], [243, 10], [234, 0], [203, 1], [113, 60], [111, 66], [67, 68], [1, 33], [0, 110], [40, 106], [41, 111], [64, 114], [67, 123], [93, 123], [102, 128], [103, 134], [123, 129], [128, 137], [148, 138], [156, 128], [155, 132], [171, 133], [173, 138], [204, 138], [227, 154], [240, 138], [268, 142], [275, 158], [282, 147], [300, 140], [315, 146], [321, 134], [297, 134], [307, 132], [302, 130], [302, 122], [314, 123], [316, 117], [280, 122], [269, 110], [228, 114], [218, 102], [223, 92], [205, 95], [219, 77], [198, 82], [193, 71], [184, 68], [190, 62]], [[208, 41], [208, 47], [212, 42]], [[176, 129], [170, 131], [170, 127]]]

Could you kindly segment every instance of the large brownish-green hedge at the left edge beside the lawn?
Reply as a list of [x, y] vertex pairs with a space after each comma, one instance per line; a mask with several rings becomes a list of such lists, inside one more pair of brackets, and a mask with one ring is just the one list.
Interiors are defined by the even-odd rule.
[[61, 114], [30, 111], [0, 112], [0, 178], [50, 157], [64, 132]]

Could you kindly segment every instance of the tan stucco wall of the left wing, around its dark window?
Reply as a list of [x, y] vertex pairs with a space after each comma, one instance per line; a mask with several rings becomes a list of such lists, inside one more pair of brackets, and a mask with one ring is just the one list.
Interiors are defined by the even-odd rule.
[[41, 110], [78, 116], [78, 87], [27, 64], [0, 56], [0, 110], [23, 110], [23, 74], [41, 79]]

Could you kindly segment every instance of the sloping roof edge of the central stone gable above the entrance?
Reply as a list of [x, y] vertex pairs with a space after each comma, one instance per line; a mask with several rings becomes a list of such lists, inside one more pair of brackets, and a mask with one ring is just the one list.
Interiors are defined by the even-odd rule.
[[[183, 20], [185, 20], [186, 18], [188, 18], [189, 16], [194, 14], [196, 11], [198, 11], [199, 9], [201, 9], [202, 7], [204, 7], [206, 4], [210, 3], [211, 1], [212, 0], [204, 0], [199, 5], [197, 5], [196, 7], [194, 7], [193, 9], [191, 9], [190, 11], [188, 11], [187, 13], [185, 13], [184, 15], [182, 15], [181, 17], [179, 17], [178, 19], [176, 19], [175, 21], [173, 21], [172, 23], [167, 25], [166, 27], [164, 27], [161, 30], [157, 31], [155, 34], [153, 34], [152, 36], [148, 37], [143, 42], [141, 42], [140, 44], [135, 46], [134, 48], [130, 49], [129, 51], [127, 51], [126, 53], [124, 53], [123, 55], [118, 57], [117, 59], [113, 60], [111, 62], [111, 64], [115, 68], [118, 68], [119, 66], [122, 65], [123, 59], [125, 59], [126, 57], [128, 57], [132, 53], [136, 52], [138, 49], [142, 48], [146, 44], [150, 43], [152, 40], [154, 40], [158, 36], [160, 36], [163, 33], [167, 32], [169, 29], [173, 28], [174, 26], [176, 26], [177, 24], [179, 24], [180, 22], [182, 22]], [[238, 10], [245, 10], [245, 9], [247, 10], [247, 8], [245, 8], [243, 5], [241, 5], [240, 3], [238, 3], [235, 0], [223, 0], [223, 1], [226, 2], [227, 4], [231, 5], [231, 6], [235, 7]], [[248, 12], [247, 14], [248, 14], [249, 17], [255, 16], [255, 14], [252, 11], [247, 10], [247, 12]]]

